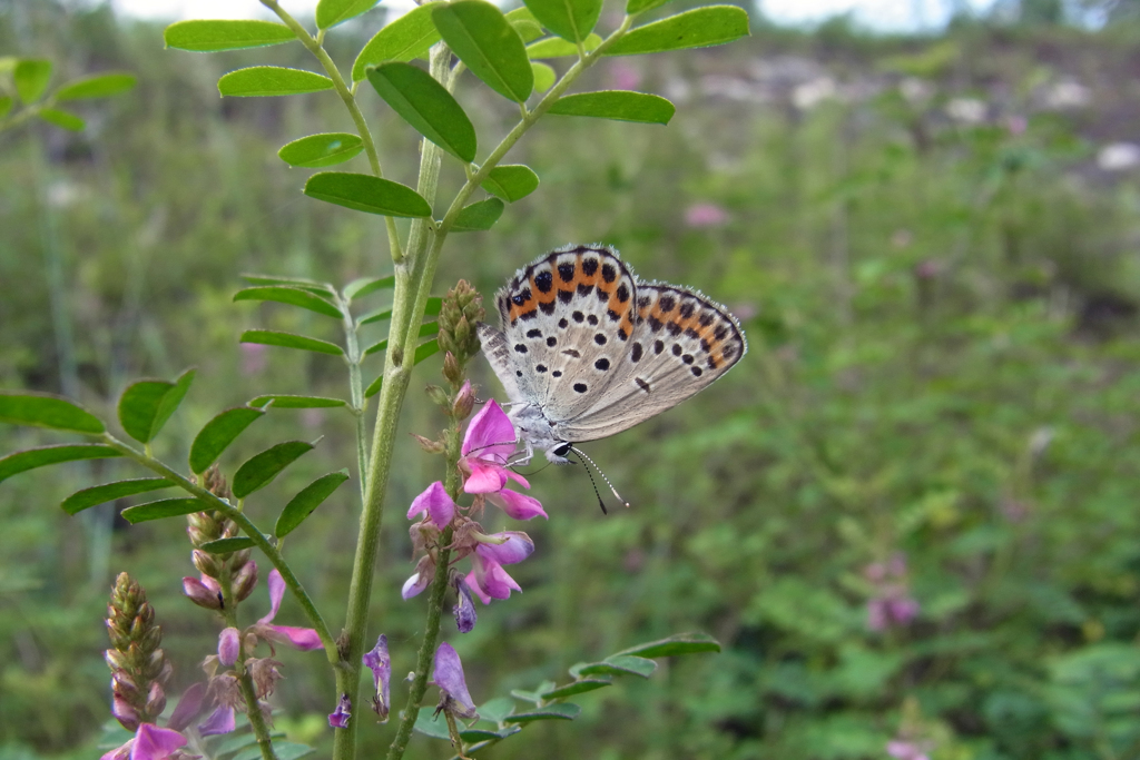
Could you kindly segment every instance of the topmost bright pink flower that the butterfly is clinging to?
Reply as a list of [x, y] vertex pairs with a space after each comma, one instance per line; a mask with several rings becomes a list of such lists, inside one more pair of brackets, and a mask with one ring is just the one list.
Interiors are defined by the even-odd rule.
[[512, 480], [523, 488], [530, 488], [526, 477], [506, 467], [518, 440], [514, 425], [498, 403], [491, 399], [483, 404], [467, 425], [463, 447], [459, 449], [463, 455], [459, 469], [466, 475], [463, 490], [467, 493], [482, 493], [514, 520], [530, 520], [539, 515], [546, 517], [538, 499], [506, 488]]

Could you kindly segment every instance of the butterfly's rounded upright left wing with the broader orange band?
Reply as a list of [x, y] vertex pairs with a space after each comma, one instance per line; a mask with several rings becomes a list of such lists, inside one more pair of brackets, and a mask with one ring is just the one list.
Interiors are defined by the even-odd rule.
[[551, 423], [573, 419], [614, 382], [634, 333], [635, 303], [633, 275], [612, 251], [559, 248], [496, 294], [503, 343], [488, 359]]

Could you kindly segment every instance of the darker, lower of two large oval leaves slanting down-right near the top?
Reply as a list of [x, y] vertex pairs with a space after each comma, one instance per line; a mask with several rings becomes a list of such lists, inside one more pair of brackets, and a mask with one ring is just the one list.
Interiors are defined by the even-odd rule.
[[417, 132], [465, 163], [475, 160], [475, 128], [431, 74], [412, 64], [392, 62], [368, 68], [368, 81]]

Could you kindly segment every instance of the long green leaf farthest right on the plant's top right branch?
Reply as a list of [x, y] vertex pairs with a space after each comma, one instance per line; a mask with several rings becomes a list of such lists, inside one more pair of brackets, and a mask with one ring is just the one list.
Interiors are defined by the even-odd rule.
[[736, 6], [705, 6], [637, 26], [605, 50], [608, 56], [684, 50], [748, 36], [748, 14]]

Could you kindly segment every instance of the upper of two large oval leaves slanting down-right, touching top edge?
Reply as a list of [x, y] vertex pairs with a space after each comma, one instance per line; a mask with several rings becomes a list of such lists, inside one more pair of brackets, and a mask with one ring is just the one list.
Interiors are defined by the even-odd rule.
[[522, 38], [503, 11], [484, 0], [454, 0], [432, 11], [435, 28], [448, 47], [504, 98], [523, 103], [535, 88]]

